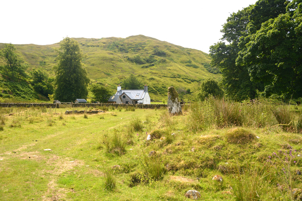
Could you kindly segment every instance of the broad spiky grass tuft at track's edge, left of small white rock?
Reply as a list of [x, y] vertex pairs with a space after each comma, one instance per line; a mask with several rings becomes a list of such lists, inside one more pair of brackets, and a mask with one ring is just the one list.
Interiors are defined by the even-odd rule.
[[126, 151], [126, 140], [117, 130], [111, 134], [105, 134], [103, 143], [108, 153], [123, 155]]

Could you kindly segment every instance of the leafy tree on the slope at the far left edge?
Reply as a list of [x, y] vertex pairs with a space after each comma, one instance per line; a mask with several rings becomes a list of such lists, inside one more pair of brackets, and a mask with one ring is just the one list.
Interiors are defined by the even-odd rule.
[[25, 74], [26, 65], [24, 59], [16, 53], [16, 48], [13, 44], [4, 44], [4, 48], [0, 50], [0, 58], [2, 58], [6, 65], [1, 67], [1, 72], [11, 77], [27, 77]]

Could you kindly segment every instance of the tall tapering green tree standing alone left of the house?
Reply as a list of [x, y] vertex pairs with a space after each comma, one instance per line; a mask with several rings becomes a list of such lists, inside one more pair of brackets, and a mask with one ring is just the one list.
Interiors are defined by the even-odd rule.
[[66, 37], [57, 50], [57, 65], [54, 67], [55, 99], [61, 102], [70, 102], [75, 99], [87, 97], [89, 79], [85, 69], [82, 68], [84, 54], [75, 39]]

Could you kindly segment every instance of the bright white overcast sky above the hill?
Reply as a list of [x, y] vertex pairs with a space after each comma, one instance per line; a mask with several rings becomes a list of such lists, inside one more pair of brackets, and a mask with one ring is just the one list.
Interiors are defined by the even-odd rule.
[[230, 13], [256, 0], [0, 1], [0, 42], [47, 45], [63, 37], [143, 34], [208, 53]]

